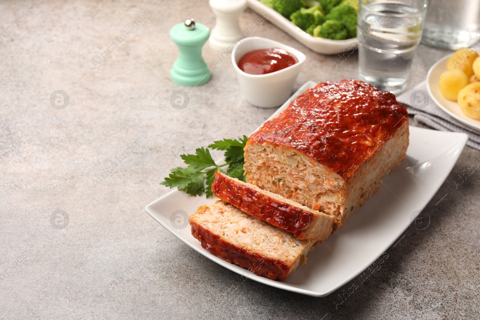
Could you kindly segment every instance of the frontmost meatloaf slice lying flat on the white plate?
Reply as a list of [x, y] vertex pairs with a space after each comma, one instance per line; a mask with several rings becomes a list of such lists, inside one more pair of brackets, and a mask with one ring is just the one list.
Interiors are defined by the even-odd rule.
[[315, 240], [299, 240], [291, 233], [217, 200], [190, 216], [192, 235], [217, 257], [272, 280], [285, 281]]

